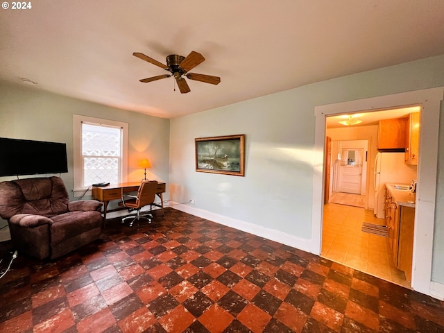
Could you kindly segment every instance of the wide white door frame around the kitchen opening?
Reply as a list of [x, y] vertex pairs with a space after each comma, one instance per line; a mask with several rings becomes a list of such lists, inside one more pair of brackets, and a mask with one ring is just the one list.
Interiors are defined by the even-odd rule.
[[[441, 101], [444, 87], [402, 92], [357, 101], [319, 105], [314, 108], [316, 117], [314, 144], [314, 177], [311, 214], [311, 252], [321, 254], [323, 224], [323, 160], [325, 142], [325, 117], [334, 114], [371, 112], [400, 108], [408, 105], [422, 107], [420, 127], [420, 157], [418, 162], [418, 189], [416, 191], [413, 239], [413, 271], [411, 287], [432, 295], [432, 255], [436, 174], [438, 165], [438, 134]], [[424, 162], [422, 162], [424, 161]]]

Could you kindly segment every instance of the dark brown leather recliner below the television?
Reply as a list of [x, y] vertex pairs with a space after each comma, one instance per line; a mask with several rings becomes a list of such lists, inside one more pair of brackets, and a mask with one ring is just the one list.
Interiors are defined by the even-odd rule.
[[19, 253], [55, 259], [99, 239], [101, 206], [96, 200], [69, 202], [59, 177], [0, 182], [0, 216], [8, 220]]

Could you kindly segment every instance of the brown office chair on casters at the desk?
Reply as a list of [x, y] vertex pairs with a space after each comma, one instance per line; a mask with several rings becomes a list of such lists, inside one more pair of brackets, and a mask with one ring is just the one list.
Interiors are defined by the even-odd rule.
[[[144, 181], [139, 186], [139, 191], [137, 191], [137, 196], [124, 195], [122, 190], [122, 201], [119, 203], [119, 206], [127, 207], [128, 212], [132, 210], [136, 210], [137, 213], [135, 215], [126, 216], [122, 219], [122, 223], [125, 223], [128, 219], [133, 219], [130, 222], [130, 227], [133, 226], [135, 221], [139, 221], [139, 219], [147, 219], [148, 223], [151, 223], [153, 219], [153, 214], [151, 213], [140, 213], [142, 207], [146, 205], [151, 205], [155, 199], [155, 191], [157, 189], [157, 181], [150, 180]], [[151, 209], [150, 209], [151, 211]]]

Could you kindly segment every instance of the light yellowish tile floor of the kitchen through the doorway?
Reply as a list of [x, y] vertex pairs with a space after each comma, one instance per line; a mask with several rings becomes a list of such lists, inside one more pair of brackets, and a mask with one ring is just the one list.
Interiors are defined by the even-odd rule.
[[393, 263], [388, 238], [361, 231], [363, 222], [383, 224], [373, 211], [361, 207], [324, 205], [321, 256], [377, 278], [411, 288]]

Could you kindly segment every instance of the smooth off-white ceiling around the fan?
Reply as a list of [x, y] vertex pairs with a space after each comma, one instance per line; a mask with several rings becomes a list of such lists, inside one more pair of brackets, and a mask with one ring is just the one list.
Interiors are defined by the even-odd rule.
[[[12, 3], [9, 1], [9, 3]], [[79, 0], [0, 10], [0, 78], [117, 108], [173, 118], [320, 80], [444, 54], [444, 1]], [[132, 56], [206, 58], [173, 78]]]

